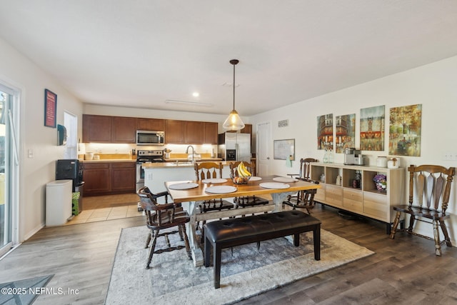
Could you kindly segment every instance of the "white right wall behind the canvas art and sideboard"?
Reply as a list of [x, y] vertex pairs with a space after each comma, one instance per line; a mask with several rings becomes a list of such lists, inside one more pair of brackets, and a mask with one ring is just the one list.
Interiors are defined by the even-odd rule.
[[[287, 168], [283, 160], [271, 161], [271, 174], [284, 175], [298, 173], [300, 158], [313, 157], [322, 160], [323, 151], [317, 149], [317, 116], [333, 114], [335, 119], [338, 115], [356, 114], [356, 134], [358, 134], [360, 109], [385, 105], [386, 125], [388, 125], [390, 108], [422, 104], [421, 156], [401, 156], [402, 167], [411, 164], [457, 166], [457, 161], [443, 159], [446, 151], [457, 153], [456, 74], [457, 56], [251, 116], [251, 124], [253, 129], [256, 129], [256, 124], [270, 121], [272, 140], [296, 140], [296, 161], [293, 161], [293, 169]], [[289, 120], [289, 126], [278, 128], [278, 121], [283, 119]], [[356, 148], [359, 145], [360, 141], [357, 138]], [[388, 155], [388, 126], [386, 126], [385, 151], [362, 151], [362, 154], [368, 156], [372, 165], [376, 165], [376, 156]], [[343, 154], [335, 154], [336, 163], [343, 163], [343, 160]], [[454, 214], [457, 214], [456, 184], [453, 185], [448, 208], [448, 211]], [[407, 203], [406, 198], [405, 203]], [[450, 226], [451, 239], [455, 240], [457, 217], [452, 216], [447, 223]], [[431, 229], [428, 226], [431, 225], [421, 226], [420, 229], [423, 234], [431, 236]]]

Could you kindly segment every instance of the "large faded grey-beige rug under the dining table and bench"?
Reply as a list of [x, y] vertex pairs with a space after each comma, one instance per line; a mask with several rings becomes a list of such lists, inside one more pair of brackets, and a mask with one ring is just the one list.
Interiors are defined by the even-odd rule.
[[[318, 274], [373, 254], [362, 246], [321, 230], [321, 260], [314, 260], [312, 232], [301, 234], [300, 246], [287, 239], [224, 249], [221, 288], [214, 289], [213, 267], [194, 267], [186, 250], [154, 254], [145, 269], [148, 229], [123, 229], [114, 260], [106, 304], [233, 304], [298, 279]], [[179, 234], [172, 245], [184, 244]], [[156, 249], [164, 247], [159, 238]]]

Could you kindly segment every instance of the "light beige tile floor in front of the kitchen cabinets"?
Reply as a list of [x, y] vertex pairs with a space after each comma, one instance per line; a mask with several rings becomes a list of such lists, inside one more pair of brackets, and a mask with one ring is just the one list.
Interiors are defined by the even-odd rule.
[[66, 225], [141, 216], [138, 195], [119, 194], [83, 197], [83, 210]]

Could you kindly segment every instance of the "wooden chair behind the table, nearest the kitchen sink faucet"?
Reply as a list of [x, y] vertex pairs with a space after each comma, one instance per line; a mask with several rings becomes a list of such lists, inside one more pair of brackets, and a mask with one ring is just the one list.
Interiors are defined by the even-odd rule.
[[[222, 169], [224, 166], [221, 162], [199, 162], [194, 165], [196, 180], [203, 181], [205, 179], [218, 179], [222, 178]], [[210, 211], [223, 211], [233, 209], [233, 203], [224, 199], [210, 199], [204, 201], [197, 201], [196, 206], [199, 208], [200, 213], [207, 213]], [[201, 231], [202, 240], [204, 240], [204, 229], [203, 224], [199, 226], [199, 222], [196, 224], [196, 229]]]

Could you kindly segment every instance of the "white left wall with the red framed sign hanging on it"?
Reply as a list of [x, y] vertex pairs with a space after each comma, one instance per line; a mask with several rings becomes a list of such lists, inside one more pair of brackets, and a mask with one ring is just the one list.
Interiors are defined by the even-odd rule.
[[[21, 89], [19, 241], [28, 239], [45, 224], [46, 184], [55, 179], [55, 161], [64, 157], [57, 146], [57, 129], [44, 126], [44, 89], [57, 94], [56, 124], [64, 124], [64, 110], [81, 118], [83, 105], [44, 73], [0, 39], [0, 79]], [[79, 126], [81, 134], [81, 126]], [[33, 158], [28, 158], [31, 149]]]

